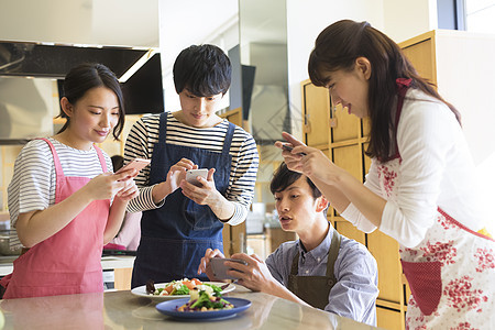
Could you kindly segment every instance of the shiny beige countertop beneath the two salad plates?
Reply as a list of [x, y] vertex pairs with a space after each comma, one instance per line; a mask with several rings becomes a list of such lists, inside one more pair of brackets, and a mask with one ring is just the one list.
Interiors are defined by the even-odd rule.
[[0, 310], [4, 329], [376, 329], [242, 286], [224, 297], [249, 299], [252, 306], [223, 320], [182, 321], [160, 314], [156, 301], [122, 290], [0, 300]]

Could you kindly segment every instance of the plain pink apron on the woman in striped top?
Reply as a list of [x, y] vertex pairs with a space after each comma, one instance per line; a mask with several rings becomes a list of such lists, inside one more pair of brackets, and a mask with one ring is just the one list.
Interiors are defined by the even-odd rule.
[[[56, 172], [55, 204], [63, 201], [90, 179], [66, 177], [53, 144], [48, 143]], [[101, 168], [107, 164], [95, 146]], [[101, 251], [110, 200], [96, 200], [51, 238], [37, 243], [13, 263], [13, 273], [0, 284], [4, 299], [98, 293], [103, 290]]]

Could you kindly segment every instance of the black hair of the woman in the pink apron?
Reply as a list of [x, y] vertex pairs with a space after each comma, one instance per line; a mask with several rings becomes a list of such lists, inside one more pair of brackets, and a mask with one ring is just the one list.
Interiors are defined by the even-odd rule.
[[[119, 101], [119, 121], [113, 128], [113, 138], [119, 141], [119, 135], [125, 122], [125, 111], [122, 89], [112, 70], [99, 63], [84, 63], [75, 66], [65, 76], [63, 96], [67, 98], [70, 105], [76, 105], [89, 89], [95, 87], [107, 87], [117, 96]], [[70, 124], [70, 118], [62, 109], [59, 117], [67, 119], [64, 127], [58, 131], [58, 133], [62, 133]]]

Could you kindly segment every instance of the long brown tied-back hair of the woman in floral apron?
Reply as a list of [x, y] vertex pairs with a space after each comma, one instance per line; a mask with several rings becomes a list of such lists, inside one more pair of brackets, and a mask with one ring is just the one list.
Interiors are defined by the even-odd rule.
[[[400, 47], [367, 22], [342, 20], [326, 28], [317, 37], [309, 56], [309, 77], [316, 86], [327, 86], [324, 73], [354, 69], [358, 57], [366, 57], [372, 66], [369, 89], [370, 144], [366, 155], [385, 162], [395, 152], [397, 128], [393, 122], [397, 96], [397, 78], [411, 79], [411, 88], [444, 102], [455, 114], [459, 111], [435, 89], [435, 85], [418, 75]], [[328, 76], [328, 75], [327, 75]], [[392, 134], [391, 134], [392, 133]]]

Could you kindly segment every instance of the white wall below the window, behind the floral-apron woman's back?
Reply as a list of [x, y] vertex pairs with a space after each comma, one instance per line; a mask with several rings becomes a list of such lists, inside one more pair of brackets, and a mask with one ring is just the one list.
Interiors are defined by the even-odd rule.
[[495, 58], [495, 35], [441, 30], [437, 44], [438, 90], [461, 112], [463, 132], [477, 166], [480, 205], [487, 227], [495, 233], [495, 216], [490, 210], [495, 198], [495, 66], [486, 65], [487, 58]]

